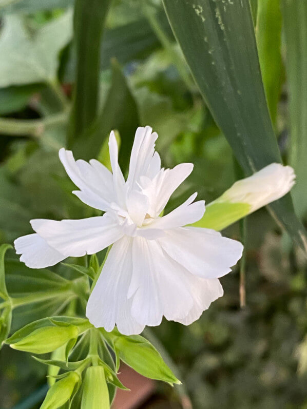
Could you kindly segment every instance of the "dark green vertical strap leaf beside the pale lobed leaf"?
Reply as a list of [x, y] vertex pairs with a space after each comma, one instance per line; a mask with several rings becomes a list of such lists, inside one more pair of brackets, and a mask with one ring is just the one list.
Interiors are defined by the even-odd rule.
[[95, 119], [98, 109], [100, 47], [110, 0], [76, 0], [74, 38], [76, 42], [76, 80], [68, 140], [78, 139]]

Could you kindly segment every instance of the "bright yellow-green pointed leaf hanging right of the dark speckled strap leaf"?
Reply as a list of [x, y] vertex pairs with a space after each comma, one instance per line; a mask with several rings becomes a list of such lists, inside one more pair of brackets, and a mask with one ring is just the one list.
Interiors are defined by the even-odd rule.
[[262, 80], [273, 123], [282, 80], [280, 0], [258, 0], [256, 39]]

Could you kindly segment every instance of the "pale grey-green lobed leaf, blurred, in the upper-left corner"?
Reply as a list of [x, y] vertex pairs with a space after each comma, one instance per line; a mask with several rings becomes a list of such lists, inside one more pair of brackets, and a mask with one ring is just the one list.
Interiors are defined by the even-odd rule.
[[30, 32], [19, 15], [4, 17], [0, 35], [0, 87], [52, 83], [58, 55], [72, 36], [72, 12], [67, 11], [36, 32]]

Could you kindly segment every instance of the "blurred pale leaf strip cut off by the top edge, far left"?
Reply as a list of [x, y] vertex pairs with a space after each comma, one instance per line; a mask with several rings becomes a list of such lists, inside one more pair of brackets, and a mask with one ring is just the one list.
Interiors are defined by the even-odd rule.
[[1, 0], [0, 13], [34, 13], [41, 10], [65, 8], [74, 0]]

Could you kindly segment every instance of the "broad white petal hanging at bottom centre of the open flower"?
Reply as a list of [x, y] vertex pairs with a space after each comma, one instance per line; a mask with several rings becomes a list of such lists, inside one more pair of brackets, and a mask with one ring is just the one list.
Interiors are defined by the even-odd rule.
[[143, 325], [159, 325], [185, 317], [193, 306], [188, 271], [167, 257], [159, 244], [141, 237], [133, 239], [133, 274], [128, 297], [132, 316]]

